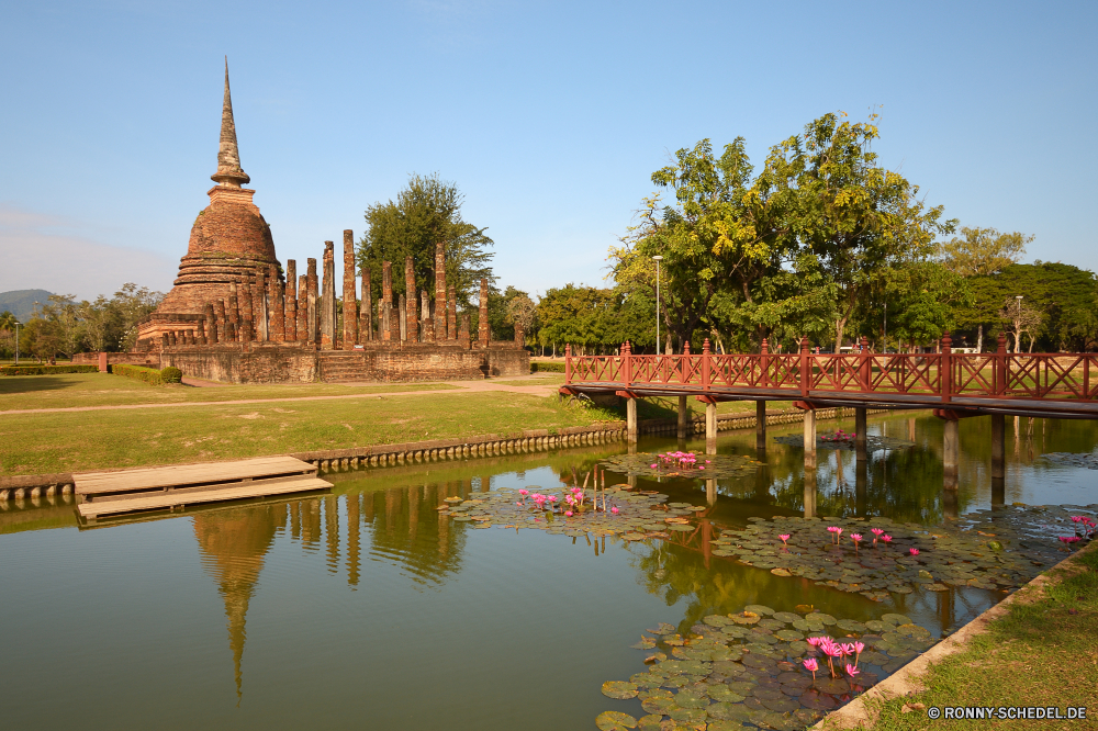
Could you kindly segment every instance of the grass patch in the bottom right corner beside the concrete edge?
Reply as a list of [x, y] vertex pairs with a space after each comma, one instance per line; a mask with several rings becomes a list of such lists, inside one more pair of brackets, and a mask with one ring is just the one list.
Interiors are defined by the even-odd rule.
[[[875, 728], [896, 729], [1066, 729], [1086, 721], [1067, 720], [930, 720], [926, 708], [948, 706], [1086, 706], [1088, 720], [1098, 716], [1098, 546], [1090, 546], [1075, 565], [1050, 572], [1043, 587], [1024, 589], [988, 632], [965, 650], [932, 666], [921, 683], [929, 688], [907, 698], [875, 706]], [[1073, 614], [1074, 612], [1074, 614]], [[904, 712], [907, 707], [908, 712]]]

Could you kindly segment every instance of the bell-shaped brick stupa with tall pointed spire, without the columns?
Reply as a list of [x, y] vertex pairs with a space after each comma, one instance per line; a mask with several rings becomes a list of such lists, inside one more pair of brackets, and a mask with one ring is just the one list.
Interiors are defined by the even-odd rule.
[[208, 303], [229, 299], [233, 282], [257, 271], [282, 279], [270, 226], [251, 202], [256, 191], [244, 188], [251, 179], [240, 168], [227, 59], [217, 171], [210, 178], [217, 183], [208, 191], [210, 205], [194, 220], [175, 285], [138, 326], [138, 350], [159, 349], [163, 334], [194, 328]]

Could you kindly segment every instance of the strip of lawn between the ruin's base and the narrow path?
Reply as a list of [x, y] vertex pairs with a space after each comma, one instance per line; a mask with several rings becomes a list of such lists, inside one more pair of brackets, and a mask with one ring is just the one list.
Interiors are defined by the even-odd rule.
[[393, 391], [441, 391], [445, 383], [395, 383], [376, 386], [337, 383], [278, 385], [224, 385], [195, 389], [187, 385], [148, 385], [141, 381], [104, 373], [59, 375], [9, 375], [0, 378], [0, 411], [23, 408], [68, 408], [123, 404], [182, 404], [240, 398], [300, 398], [339, 396]]

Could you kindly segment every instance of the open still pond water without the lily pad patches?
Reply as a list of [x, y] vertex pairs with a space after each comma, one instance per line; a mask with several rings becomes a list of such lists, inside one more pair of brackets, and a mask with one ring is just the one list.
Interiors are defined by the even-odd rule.
[[[834, 426], [853, 424], [821, 429]], [[961, 423], [955, 504], [942, 499], [940, 421], [887, 416], [870, 434], [915, 446], [874, 452], [862, 470], [852, 452], [821, 452], [817, 515], [932, 526], [999, 502], [989, 419]], [[1091, 423], [1008, 417], [1001, 499], [1098, 502], [1098, 473], [1042, 458], [1091, 453], [1096, 441]], [[3, 726], [593, 729], [603, 710], [642, 713], [600, 688], [645, 670], [648, 653], [629, 645], [658, 622], [685, 630], [749, 604], [811, 604], [863, 621], [905, 614], [938, 636], [1002, 596], [954, 588], [876, 603], [712, 556], [697, 541], [479, 530], [435, 509], [451, 495], [558, 487], [623, 449], [337, 473], [332, 495], [90, 530], [71, 506], [9, 507]], [[722, 436], [718, 451], [754, 454], [754, 434]], [[800, 514], [800, 463], [799, 449], [771, 441], [764, 466], [719, 482], [712, 522]], [[638, 486], [706, 503], [697, 481]]]

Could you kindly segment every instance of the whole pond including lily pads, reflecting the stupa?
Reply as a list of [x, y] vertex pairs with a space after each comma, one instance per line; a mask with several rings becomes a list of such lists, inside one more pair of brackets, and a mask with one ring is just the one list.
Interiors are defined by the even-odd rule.
[[[852, 419], [820, 429], [836, 426]], [[5, 723], [594, 729], [604, 711], [696, 722], [706, 708], [715, 730], [802, 728], [1065, 555], [1066, 516], [1095, 514], [1032, 506], [1098, 502], [1090, 461], [1044, 457], [1091, 454], [1098, 428], [1015, 427], [997, 488], [989, 419], [961, 423], [955, 499], [941, 490], [941, 423], [919, 413], [871, 417], [887, 448], [861, 466], [821, 451], [815, 491], [782, 440], [797, 429], [771, 427], [762, 464], [753, 431], [720, 437], [739, 462], [708, 494], [704, 480], [608, 471], [618, 514], [551, 525], [518, 491], [563, 496], [624, 446], [336, 473], [330, 495], [94, 529], [59, 498], [9, 505]], [[805, 520], [806, 498], [826, 520]], [[874, 526], [895, 533], [888, 558]], [[967, 563], [945, 560], [964, 551]], [[808, 687], [803, 639], [824, 633], [867, 639], [862, 678], [831, 681], [820, 655], [817, 685], [831, 685]]]

